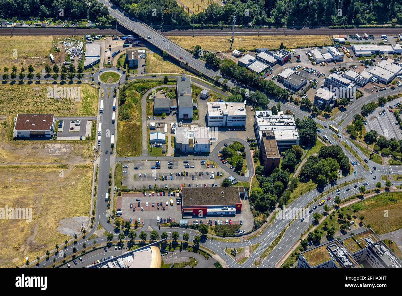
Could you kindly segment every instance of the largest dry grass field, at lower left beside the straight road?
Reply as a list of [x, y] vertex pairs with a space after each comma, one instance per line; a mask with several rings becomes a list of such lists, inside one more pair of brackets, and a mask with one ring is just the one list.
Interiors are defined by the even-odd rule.
[[0, 166], [1, 207], [32, 208], [31, 222], [1, 220], [0, 267], [21, 266], [71, 238], [57, 228], [64, 218], [89, 216], [92, 172], [92, 164]]

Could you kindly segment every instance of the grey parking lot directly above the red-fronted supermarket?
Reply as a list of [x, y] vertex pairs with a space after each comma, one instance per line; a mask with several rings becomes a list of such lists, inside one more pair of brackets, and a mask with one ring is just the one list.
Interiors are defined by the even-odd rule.
[[156, 162], [151, 161], [123, 162], [122, 185], [146, 190], [181, 188], [189, 184], [190, 187], [212, 187], [222, 183], [224, 176], [224, 171], [211, 161], [205, 164], [201, 164], [201, 160], [161, 161], [157, 168]]

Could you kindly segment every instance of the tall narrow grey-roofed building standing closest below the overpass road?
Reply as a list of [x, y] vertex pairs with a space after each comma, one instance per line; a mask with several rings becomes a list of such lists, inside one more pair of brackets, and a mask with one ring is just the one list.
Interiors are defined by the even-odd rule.
[[176, 98], [178, 119], [193, 119], [193, 94], [191, 77], [186, 74], [176, 76]]

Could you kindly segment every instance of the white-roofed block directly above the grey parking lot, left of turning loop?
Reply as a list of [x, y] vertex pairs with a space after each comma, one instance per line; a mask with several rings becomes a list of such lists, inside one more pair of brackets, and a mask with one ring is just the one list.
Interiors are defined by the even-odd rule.
[[209, 128], [176, 127], [174, 151], [177, 153], [206, 153], [211, 150]]

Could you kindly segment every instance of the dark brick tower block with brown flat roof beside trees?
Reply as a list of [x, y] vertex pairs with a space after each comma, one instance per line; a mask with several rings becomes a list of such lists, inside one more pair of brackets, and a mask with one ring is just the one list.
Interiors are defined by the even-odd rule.
[[273, 131], [265, 131], [261, 136], [260, 159], [265, 168], [265, 175], [271, 174], [275, 168], [279, 169], [281, 155]]

